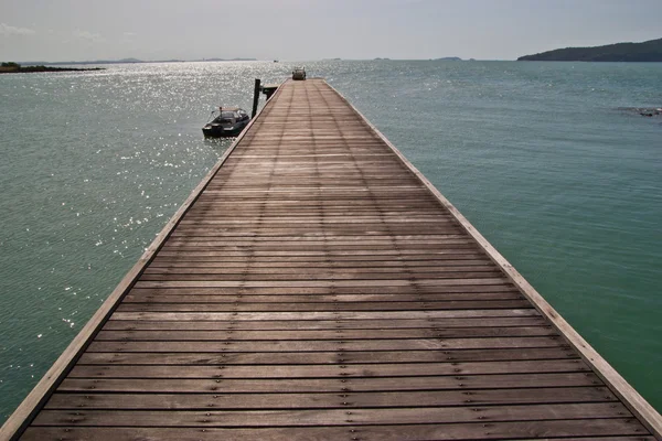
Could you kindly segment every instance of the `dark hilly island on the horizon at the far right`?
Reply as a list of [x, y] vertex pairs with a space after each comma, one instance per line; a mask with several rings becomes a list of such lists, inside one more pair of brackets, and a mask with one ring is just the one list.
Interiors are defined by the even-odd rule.
[[662, 62], [662, 39], [642, 43], [617, 43], [595, 47], [566, 47], [534, 55], [521, 61], [540, 62]]

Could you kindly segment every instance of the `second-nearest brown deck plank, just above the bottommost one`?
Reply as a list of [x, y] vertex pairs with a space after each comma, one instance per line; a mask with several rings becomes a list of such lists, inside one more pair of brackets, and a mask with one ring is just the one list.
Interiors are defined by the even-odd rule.
[[[351, 416], [351, 417], [349, 417]], [[314, 410], [243, 410], [185, 411], [145, 410], [43, 410], [34, 426], [103, 426], [103, 427], [225, 427], [274, 428], [306, 426], [352, 426], [417, 423], [457, 423], [490, 421], [535, 421], [563, 419], [611, 419], [628, 417], [619, 404], [590, 402], [563, 405], [435, 407], [415, 409], [345, 409]], [[350, 420], [350, 421], [348, 421]]]

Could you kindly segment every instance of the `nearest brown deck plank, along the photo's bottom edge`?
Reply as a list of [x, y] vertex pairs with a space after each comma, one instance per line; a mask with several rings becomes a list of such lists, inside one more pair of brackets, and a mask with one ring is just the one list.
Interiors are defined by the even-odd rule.
[[[480, 422], [449, 424], [388, 424], [359, 427], [348, 422], [337, 427], [298, 427], [268, 429], [214, 429], [214, 428], [87, 428], [87, 427], [34, 427], [24, 439], [44, 440], [111, 440], [111, 441], [335, 441], [335, 440], [500, 440], [500, 439], [563, 439], [581, 437], [583, 441], [651, 441], [645, 429], [634, 419], [576, 419], [516, 422]], [[611, 438], [616, 435], [618, 438]], [[609, 437], [609, 438], [588, 438]]]

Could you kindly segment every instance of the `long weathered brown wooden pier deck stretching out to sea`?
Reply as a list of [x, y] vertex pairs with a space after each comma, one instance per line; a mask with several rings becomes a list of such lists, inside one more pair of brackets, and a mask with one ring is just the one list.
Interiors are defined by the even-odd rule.
[[660, 435], [659, 413], [323, 80], [286, 83], [220, 165], [2, 435]]

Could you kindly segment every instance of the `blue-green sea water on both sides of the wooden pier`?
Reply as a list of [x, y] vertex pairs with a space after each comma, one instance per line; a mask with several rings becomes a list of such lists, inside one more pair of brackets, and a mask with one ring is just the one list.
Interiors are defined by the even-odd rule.
[[[0, 422], [293, 63], [0, 75]], [[662, 410], [662, 64], [306, 63]], [[264, 98], [263, 98], [264, 103]]]

